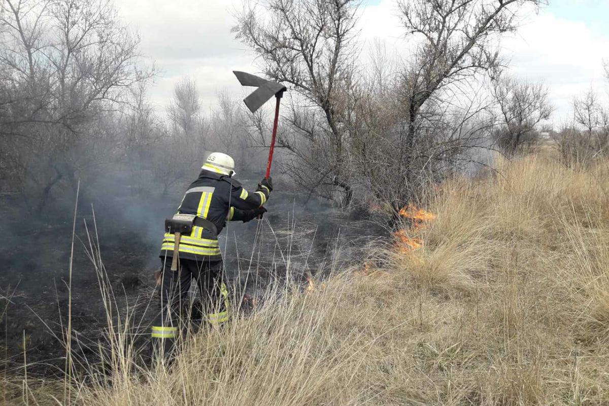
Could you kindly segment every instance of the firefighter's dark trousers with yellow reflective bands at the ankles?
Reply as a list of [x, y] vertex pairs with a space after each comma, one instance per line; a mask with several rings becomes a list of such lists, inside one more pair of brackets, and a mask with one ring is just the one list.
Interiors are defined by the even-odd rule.
[[160, 312], [152, 323], [153, 357], [169, 359], [175, 341], [189, 325], [192, 303], [188, 292], [197, 279], [205, 321], [218, 325], [228, 321], [228, 292], [222, 282], [222, 261], [181, 259], [177, 271], [171, 270], [171, 258], [161, 259], [163, 278], [159, 289]]

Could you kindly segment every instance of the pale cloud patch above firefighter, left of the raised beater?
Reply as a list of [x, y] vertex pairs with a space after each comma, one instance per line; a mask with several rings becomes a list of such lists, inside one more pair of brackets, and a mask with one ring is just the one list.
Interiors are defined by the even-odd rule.
[[182, 77], [197, 81], [204, 106], [217, 93], [244, 94], [233, 70], [256, 71], [253, 55], [234, 39], [231, 15], [236, 2], [222, 0], [116, 0], [124, 21], [138, 30], [141, 51], [160, 71], [150, 89], [158, 111]]

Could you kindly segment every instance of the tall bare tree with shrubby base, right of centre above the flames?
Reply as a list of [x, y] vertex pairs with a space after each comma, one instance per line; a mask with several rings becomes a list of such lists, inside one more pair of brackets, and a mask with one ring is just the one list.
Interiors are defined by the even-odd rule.
[[468, 95], [475, 94], [479, 75], [500, 71], [498, 41], [516, 29], [516, 12], [526, 4], [538, 7], [544, 1], [398, 1], [407, 36], [417, 47], [393, 90], [403, 117], [393, 126], [393, 136], [373, 145], [390, 146], [383, 154], [389, 160], [386, 166], [389, 173], [400, 174], [393, 185], [403, 186], [378, 176], [370, 180], [383, 185], [381, 190], [393, 187], [390, 203], [395, 211], [415, 200], [429, 181], [484, 164], [473, 151], [489, 146], [488, 104]]

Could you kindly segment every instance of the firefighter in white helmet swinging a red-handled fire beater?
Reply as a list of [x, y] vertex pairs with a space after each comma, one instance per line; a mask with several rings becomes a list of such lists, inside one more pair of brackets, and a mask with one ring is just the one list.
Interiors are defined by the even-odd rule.
[[161, 311], [152, 326], [153, 354], [163, 351], [167, 359], [180, 335], [180, 315], [185, 308], [192, 278], [197, 279], [203, 314], [211, 325], [228, 321], [228, 291], [222, 281], [222, 254], [218, 234], [226, 221], [248, 222], [264, 214], [264, 203], [273, 190], [270, 178], [263, 179], [255, 192], [248, 192], [233, 177], [234, 160], [221, 152], [211, 153], [203, 163], [199, 178], [182, 198], [178, 214], [195, 215], [190, 235], [178, 243], [179, 265], [171, 270], [175, 236], [166, 233], [161, 245]]

